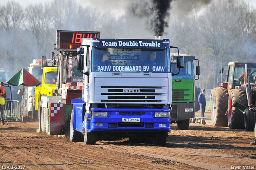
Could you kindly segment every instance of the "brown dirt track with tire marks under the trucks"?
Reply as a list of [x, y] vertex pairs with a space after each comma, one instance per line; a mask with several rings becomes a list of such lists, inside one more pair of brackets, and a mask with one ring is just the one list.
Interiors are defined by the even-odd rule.
[[[190, 124], [189, 130], [171, 133], [165, 147], [121, 141], [96, 145], [70, 142], [37, 133], [38, 122], [8, 122], [0, 126], [0, 169], [256, 169], [253, 131]], [[248, 168], [248, 167], [247, 167]]]

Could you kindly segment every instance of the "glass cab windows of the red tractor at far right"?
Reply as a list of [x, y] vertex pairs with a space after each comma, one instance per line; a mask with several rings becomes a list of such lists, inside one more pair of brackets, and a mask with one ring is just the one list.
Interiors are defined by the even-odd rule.
[[[235, 86], [244, 84], [244, 75], [245, 75], [245, 68], [247, 64], [247, 76], [246, 76], [246, 83], [248, 83], [248, 75], [256, 69], [256, 63], [236, 63], [235, 64], [235, 70], [234, 70], [234, 82], [233, 84]], [[256, 79], [256, 72], [250, 76], [250, 83], [255, 83]]]

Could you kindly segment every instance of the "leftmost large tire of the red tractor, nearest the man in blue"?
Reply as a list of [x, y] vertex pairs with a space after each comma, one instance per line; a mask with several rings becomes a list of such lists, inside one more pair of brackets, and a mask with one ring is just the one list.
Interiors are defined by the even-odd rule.
[[227, 88], [217, 87], [212, 90], [211, 119], [213, 126], [228, 126], [226, 111], [228, 109]]

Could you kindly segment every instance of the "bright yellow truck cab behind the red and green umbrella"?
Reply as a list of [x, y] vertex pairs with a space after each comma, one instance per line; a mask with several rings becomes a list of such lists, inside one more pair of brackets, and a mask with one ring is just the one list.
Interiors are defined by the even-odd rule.
[[52, 91], [55, 90], [55, 78], [57, 67], [44, 67], [42, 76], [42, 85], [35, 87], [36, 105], [35, 110], [38, 110], [38, 101], [42, 95], [52, 96]]

